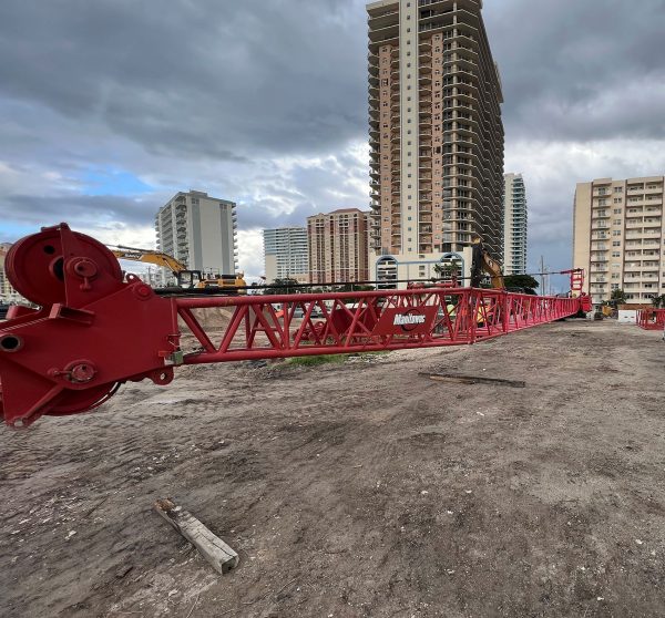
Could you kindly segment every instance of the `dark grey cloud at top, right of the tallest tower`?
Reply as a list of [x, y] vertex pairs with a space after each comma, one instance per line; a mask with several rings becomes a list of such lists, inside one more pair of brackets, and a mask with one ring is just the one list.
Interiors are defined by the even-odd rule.
[[665, 136], [665, 2], [485, 2], [509, 140]]

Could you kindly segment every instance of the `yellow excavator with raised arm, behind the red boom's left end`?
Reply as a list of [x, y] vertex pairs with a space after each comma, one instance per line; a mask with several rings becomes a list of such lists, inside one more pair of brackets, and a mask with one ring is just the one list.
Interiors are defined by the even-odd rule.
[[219, 290], [226, 293], [246, 293], [245, 274], [204, 276], [201, 270], [188, 270], [173, 256], [153, 249], [137, 249], [123, 245], [110, 245], [109, 248], [117, 259], [154, 264], [171, 270], [180, 288], [197, 290]]

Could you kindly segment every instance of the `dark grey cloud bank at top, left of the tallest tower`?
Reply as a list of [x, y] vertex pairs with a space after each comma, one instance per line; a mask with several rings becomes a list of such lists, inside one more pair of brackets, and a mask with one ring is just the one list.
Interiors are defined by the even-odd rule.
[[325, 152], [365, 130], [366, 52], [348, 28], [361, 18], [354, 8], [8, 0], [0, 87], [166, 156]]

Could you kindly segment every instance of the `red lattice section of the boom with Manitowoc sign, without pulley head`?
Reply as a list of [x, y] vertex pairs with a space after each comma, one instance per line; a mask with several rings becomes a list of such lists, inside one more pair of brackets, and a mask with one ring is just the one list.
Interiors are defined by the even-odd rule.
[[[177, 298], [201, 344], [185, 363], [460, 346], [574, 316], [577, 298], [472, 288]], [[193, 309], [226, 307], [219, 339]], [[216, 339], [216, 340], [215, 340]]]

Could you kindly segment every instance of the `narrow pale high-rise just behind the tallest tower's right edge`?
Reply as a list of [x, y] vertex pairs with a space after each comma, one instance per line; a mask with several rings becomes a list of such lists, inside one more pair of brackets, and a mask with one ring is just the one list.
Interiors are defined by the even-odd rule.
[[526, 192], [522, 174], [504, 174], [503, 274], [526, 272]]

